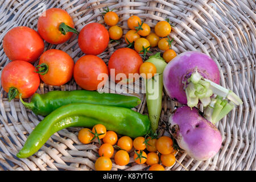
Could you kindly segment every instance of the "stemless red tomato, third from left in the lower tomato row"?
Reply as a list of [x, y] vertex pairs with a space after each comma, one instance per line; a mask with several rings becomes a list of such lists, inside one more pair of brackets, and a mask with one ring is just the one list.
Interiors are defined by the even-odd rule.
[[[106, 77], [100, 77], [101, 73]], [[77, 60], [73, 76], [81, 88], [85, 90], [97, 90], [98, 86], [102, 87], [108, 80], [108, 67], [100, 57], [85, 55]]]

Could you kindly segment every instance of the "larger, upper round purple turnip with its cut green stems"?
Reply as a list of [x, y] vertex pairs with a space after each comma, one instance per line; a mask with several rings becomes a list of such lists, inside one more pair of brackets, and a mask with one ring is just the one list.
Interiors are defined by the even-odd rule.
[[168, 96], [191, 108], [200, 101], [205, 107], [205, 117], [212, 123], [225, 117], [234, 105], [243, 103], [219, 83], [220, 72], [216, 63], [208, 55], [196, 51], [176, 56], [163, 72], [163, 84]]

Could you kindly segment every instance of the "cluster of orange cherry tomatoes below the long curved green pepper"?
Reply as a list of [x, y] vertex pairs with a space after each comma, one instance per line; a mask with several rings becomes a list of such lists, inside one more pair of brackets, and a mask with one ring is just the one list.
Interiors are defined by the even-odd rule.
[[137, 137], [133, 140], [128, 136], [122, 136], [118, 139], [114, 131], [106, 131], [104, 125], [98, 124], [93, 126], [92, 130], [81, 129], [78, 138], [84, 144], [98, 139], [100, 147], [99, 157], [95, 162], [96, 171], [110, 171], [113, 162], [119, 166], [126, 166], [130, 163], [130, 158], [137, 164], [146, 163], [149, 171], [164, 171], [164, 167], [170, 167], [175, 163], [176, 151], [170, 137]]

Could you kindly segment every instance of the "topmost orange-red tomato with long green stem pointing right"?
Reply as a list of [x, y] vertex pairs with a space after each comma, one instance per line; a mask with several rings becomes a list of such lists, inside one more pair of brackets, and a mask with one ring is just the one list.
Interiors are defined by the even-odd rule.
[[[64, 31], [63, 28], [60, 30], [62, 26], [69, 26], [67, 27], [68, 32]], [[74, 28], [74, 23], [71, 16], [67, 11], [59, 8], [48, 9], [38, 18], [39, 34], [46, 42], [51, 44], [61, 44], [70, 39], [73, 32], [76, 32], [72, 28]]]

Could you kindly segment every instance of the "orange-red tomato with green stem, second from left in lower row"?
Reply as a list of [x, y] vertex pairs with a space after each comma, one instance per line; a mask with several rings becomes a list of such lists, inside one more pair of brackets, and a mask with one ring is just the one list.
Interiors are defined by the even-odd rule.
[[[61, 50], [49, 49], [40, 57], [38, 65], [40, 78], [48, 85], [60, 86], [66, 84], [73, 76], [74, 61], [71, 56]], [[48, 68], [46, 71], [45, 68]], [[45, 74], [44, 74], [45, 73]], [[44, 75], [43, 75], [44, 74]]]

